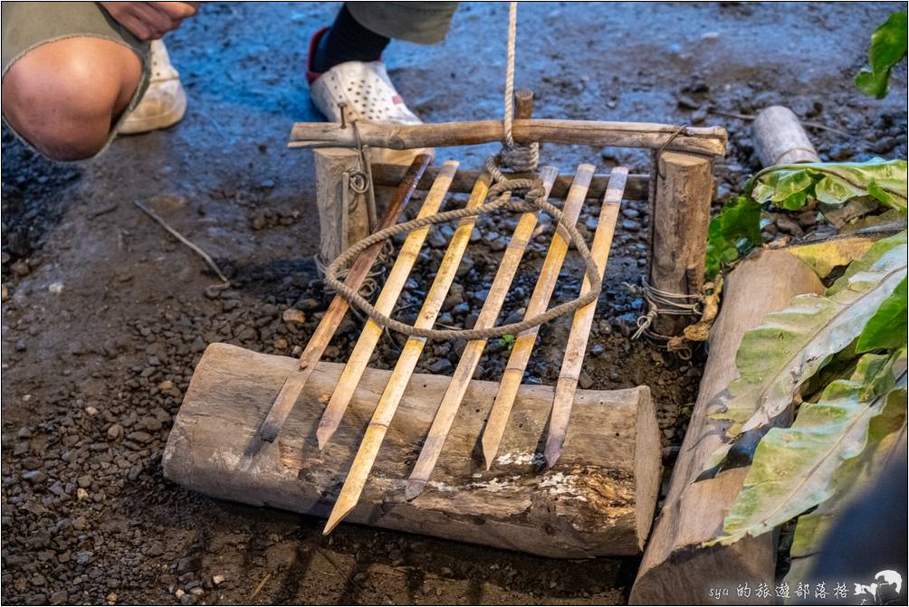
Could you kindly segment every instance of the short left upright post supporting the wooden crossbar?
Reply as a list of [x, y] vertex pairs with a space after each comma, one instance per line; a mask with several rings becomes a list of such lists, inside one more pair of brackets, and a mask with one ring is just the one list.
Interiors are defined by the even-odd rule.
[[[348, 185], [349, 175], [359, 169], [360, 154], [344, 147], [326, 147], [314, 150], [314, 156], [319, 256], [327, 264], [351, 244], [369, 235], [369, 214], [365, 195], [355, 194]], [[401, 170], [404, 174], [407, 167], [403, 166]], [[344, 201], [354, 204], [344, 204]]]

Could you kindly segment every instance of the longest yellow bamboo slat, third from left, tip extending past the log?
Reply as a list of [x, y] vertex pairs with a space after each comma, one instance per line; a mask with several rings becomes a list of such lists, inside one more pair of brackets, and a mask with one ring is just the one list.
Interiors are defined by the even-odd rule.
[[[490, 184], [489, 174], [481, 175], [474, 186], [474, 192], [470, 195], [467, 202], [468, 208], [479, 206], [484, 203], [486, 194], [489, 192]], [[442, 303], [445, 302], [445, 296], [448, 289], [454, 282], [454, 275], [457, 272], [458, 265], [461, 264], [461, 258], [464, 255], [464, 249], [470, 240], [470, 233], [474, 230], [476, 217], [467, 217], [458, 222], [454, 230], [451, 243], [445, 251], [442, 263], [439, 264], [438, 272], [435, 274], [432, 286], [429, 288], [429, 294], [426, 295], [426, 301], [423, 308], [416, 318], [414, 325], [419, 328], [429, 329], [435, 323], [435, 317], [438, 316], [442, 309]], [[405, 343], [404, 350], [395, 364], [395, 371], [392, 372], [391, 378], [385, 385], [385, 391], [379, 404], [375, 407], [373, 418], [366, 428], [363, 442], [356, 452], [354, 463], [351, 465], [350, 472], [347, 473], [344, 486], [341, 493], [332, 508], [332, 512], [325, 523], [327, 535], [335, 529], [337, 523], [341, 522], [345, 516], [354, 510], [356, 503], [360, 500], [360, 493], [363, 493], [363, 487], [366, 483], [366, 477], [369, 471], [373, 469], [375, 456], [379, 453], [379, 447], [385, 439], [385, 433], [388, 431], [388, 425], [395, 416], [395, 410], [401, 397], [404, 395], [407, 383], [410, 382], [411, 375], [414, 373], [416, 363], [423, 353], [423, 347], [426, 340], [421, 337], [411, 337]]]

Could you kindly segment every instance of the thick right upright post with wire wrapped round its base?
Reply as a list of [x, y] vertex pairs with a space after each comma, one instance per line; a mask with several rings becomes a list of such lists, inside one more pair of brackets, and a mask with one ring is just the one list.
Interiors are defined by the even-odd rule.
[[[658, 154], [652, 174], [650, 284], [668, 293], [699, 295], [714, 196], [713, 164], [704, 156], [664, 152]], [[694, 320], [660, 315], [652, 329], [677, 335]]]

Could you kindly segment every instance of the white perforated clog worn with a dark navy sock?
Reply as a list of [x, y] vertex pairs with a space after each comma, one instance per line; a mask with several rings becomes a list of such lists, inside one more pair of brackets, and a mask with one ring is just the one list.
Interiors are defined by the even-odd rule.
[[[315, 33], [310, 43], [306, 80], [315, 107], [331, 121], [341, 122], [338, 104], [346, 104], [346, 120], [368, 120], [376, 123], [423, 124], [404, 103], [395, 89], [385, 64], [381, 61], [347, 61], [325, 73], [314, 72], [312, 57], [319, 38], [328, 28]], [[371, 149], [374, 163], [410, 164], [416, 154], [433, 154], [432, 148], [415, 150]]]

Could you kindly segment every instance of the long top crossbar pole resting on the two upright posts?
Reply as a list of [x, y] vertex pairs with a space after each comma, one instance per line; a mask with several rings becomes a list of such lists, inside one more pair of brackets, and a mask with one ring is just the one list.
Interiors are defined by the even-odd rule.
[[[405, 150], [501, 142], [502, 121], [437, 124], [378, 124], [358, 121], [360, 140], [366, 145]], [[551, 144], [581, 144], [608, 147], [640, 147], [652, 150], [723, 156], [726, 131], [719, 126], [686, 126], [678, 133], [674, 124], [616, 123], [585, 120], [514, 120], [514, 141]], [[354, 129], [337, 123], [296, 123], [289, 147], [355, 147]]]

